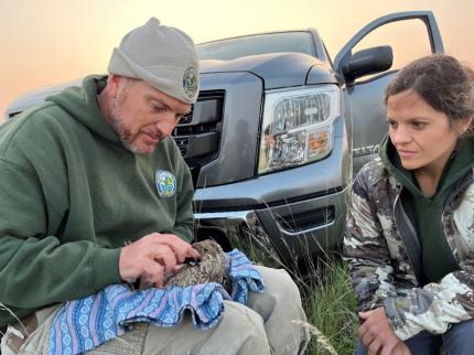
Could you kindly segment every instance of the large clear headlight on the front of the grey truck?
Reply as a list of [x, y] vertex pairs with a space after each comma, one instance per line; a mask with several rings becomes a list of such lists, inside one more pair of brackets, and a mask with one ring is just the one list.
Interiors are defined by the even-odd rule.
[[335, 85], [267, 93], [258, 173], [327, 157], [337, 116], [340, 89]]

